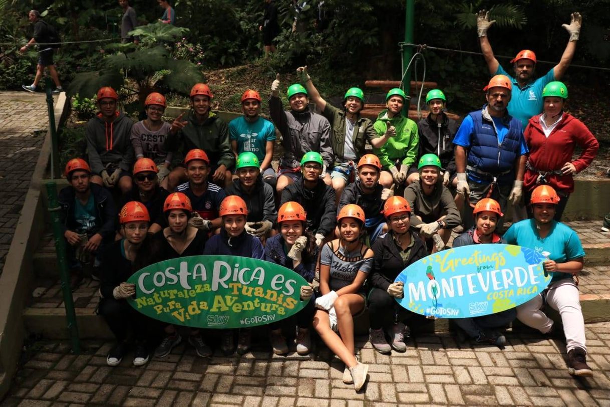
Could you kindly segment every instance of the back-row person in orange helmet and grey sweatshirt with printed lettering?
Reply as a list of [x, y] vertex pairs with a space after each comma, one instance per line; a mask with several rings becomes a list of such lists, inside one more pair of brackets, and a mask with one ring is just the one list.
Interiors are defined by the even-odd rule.
[[[153, 160], [159, 168], [157, 172], [159, 182], [162, 182], [170, 173], [173, 158], [173, 153], [168, 153], [163, 148], [171, 129], [171, 124], [162, 120], [166, 106], [165, 96], [160, 93], [152, 92], [146, 96], [144, 101], [146, 118], [134, 124], [130, 137], [134, 146], [135, 159], [145, 157]], [[167, 188], [167, 181], [164, 185]]]

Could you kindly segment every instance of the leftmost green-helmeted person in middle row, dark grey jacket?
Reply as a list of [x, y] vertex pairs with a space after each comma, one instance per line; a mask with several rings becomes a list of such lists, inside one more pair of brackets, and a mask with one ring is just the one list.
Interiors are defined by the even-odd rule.
[[248, 206], [246, 232], [259, 237], [264, 244], [268, 237], [276, 234], [273, 225], [278, 218], [278, 211], [273, 187], [264, 182], [259, 157], [250, 151], [237, 157], [235, 174], [238, 178], [224, 190], [227, 196], [237, 195], [245, 201]]

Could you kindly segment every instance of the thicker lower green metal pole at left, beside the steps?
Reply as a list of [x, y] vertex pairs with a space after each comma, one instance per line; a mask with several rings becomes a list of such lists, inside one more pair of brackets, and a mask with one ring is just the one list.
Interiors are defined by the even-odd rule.
[[63, 239], [62, 226], [60, 225], [59, 203], [57, 202], [57, 184], [54, 181], [46, 182], [46, 193], [49, 198], [49, 215], [53, 227], [53, 238], [55, 239], [55, 251], [57, 253], [57, 266], [59, 267], [59, 278], [62, 282], [63, 304], [66, 309], [68, 320], [68, 336], [72, 343], [72, 351], [77, 355], [81, 353], [81, 340], [76, 325], [76, 312], [74, 311], [74, 300], [70, 289], [70, 273], [68, 272], [68, 261], [66, 259], [66, 242]]

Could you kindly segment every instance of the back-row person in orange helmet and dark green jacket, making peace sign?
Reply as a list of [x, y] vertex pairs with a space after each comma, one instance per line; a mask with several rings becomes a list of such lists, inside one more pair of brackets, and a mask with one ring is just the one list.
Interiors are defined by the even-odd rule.
[[[229, 142], [229, 126], [210, 109], [213, 97], [207, 84], [195, 84], [190, 91], [191, 110], [171, 123], [163, 147], [166, 151], [182, 151], [185, 155], [194, 148], [203, 149], [210, 158], [210, 181], [226, 187], [232, 181], [235, 154]], [[185, 114], [187, 117], [183, 120]], [[184, 168], [175, 168], [169, 175], [168, 189], [173, 189], [185, 179]]]

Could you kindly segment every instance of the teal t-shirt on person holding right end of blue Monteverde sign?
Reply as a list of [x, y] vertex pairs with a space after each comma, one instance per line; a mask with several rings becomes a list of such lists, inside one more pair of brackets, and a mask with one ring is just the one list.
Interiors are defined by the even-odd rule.
[[[558, 263], [584, 257], [583, 245], [578, 234], [561, 222], [551, 221], [551, 231], [544, 239], [538, 236], [536, 222], [533, 219], [522, 220], [511, 225], [504, 233], [508, 245], [529, 247]], [[572, 278], [570, 273], [553, 273], [553, 281], [562, 278]]]

